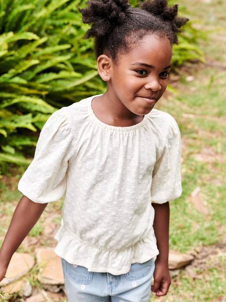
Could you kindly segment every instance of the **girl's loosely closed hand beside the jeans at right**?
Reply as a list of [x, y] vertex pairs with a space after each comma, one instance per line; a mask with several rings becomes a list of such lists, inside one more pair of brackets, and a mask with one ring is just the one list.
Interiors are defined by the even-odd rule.
[[153, 274], [154, 284], [151, 286], [152, 294], [160, 297], [165, 296], [171, 285], [171, 276], [166, 262], [155, 261], [155, 271]]

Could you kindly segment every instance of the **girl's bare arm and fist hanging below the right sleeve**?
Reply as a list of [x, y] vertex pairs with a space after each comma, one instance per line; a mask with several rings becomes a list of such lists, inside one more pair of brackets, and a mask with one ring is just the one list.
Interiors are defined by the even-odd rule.
[[159, 250], [159, 255], [155, 260], [152, 293], [159, 297], [168, 293], [171, 284], [168, 266], [170, 205], [169, 202], [165, 202], [163, 204], [152, 203], [152, 206], [155, 210], [153, 228]]

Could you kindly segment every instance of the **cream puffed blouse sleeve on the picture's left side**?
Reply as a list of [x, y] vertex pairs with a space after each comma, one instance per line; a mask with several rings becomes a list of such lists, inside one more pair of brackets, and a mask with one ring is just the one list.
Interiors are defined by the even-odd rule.
[[46, 121], [32, 163], [18, 183], [18, 190], [37, 203], [56, 201], [66, 189], [68, 162], [73, 157], [73, 135], [62, 109]]

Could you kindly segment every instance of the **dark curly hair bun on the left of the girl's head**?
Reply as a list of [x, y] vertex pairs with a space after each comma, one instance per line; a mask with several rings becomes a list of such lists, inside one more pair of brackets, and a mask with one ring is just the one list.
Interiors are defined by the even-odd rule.
[[89, 0], [88, 7], [79, 9], [84, 23], [91, 23], [86, 38], [104, 36], [115, 25], [122, 24], [130, 8], [128, 0]]

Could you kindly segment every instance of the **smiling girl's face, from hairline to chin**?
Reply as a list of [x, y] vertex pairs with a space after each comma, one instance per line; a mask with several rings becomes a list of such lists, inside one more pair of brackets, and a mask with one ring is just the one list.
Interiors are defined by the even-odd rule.
[[117, 63], [108, 70], [111, 97], [121, 102], [123, 111], [127, 108], [136, 115], [148, 114], [167, 87], [172, 60], [170, 41], [149, 34], [130, 52], [118, 56]]

